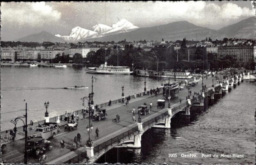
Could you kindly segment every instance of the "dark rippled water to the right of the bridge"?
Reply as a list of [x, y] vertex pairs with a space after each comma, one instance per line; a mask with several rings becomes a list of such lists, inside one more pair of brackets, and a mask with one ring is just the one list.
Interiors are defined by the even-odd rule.
[[[256, 85], [242, 83], [202, 114], [172, 119], [171, 129], [149, 129], [142, 136], [141, 149], [113, 148], [98, 163], [203, 163], [254, 164]], [[169, 157], [168, 154], [177, 154]], [[181, 157], [196, 154], [197, 158]], [[201, 154], [211, 154], [202, 158]], [[219, 157], [214, 158], [216, 154]], [[244, 155], [223, 158], [221, 154]]]

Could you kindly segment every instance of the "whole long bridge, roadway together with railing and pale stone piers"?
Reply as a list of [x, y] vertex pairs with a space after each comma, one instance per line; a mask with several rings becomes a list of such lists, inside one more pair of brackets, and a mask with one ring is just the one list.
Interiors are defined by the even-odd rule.
[[[92, 146], [86, 145], [88, 139], [86, 126], [88, 125], [88, 117], [79, 121], [79, 127], [74, 131], [64, 131], [63, 128], [59, 129], [58, 134], [51, 141], [54, 148], [47, 153], [47, 164], [76, 164], [86, 163], [89, 157], [88, 163], [96, 162], [103, 154], [108, 152], [114, 147], [127, 147], [127, 148], [140, 148], [141, 139], [143, 133], [150, 128], [171, 128], [171, 119], [177, 114], [186, 115], [188, 118], [190, 113], [194, 111], [204, 111], [207, 109], [208, 104], [214, 99], [221, 98], [224, 92], [230, 91], [232, 88], [236, 88], [236, 85], [241, 83], [241, 77], [234, 77], [233, 79], [224, 80], [221, 83], [216, 83], [208, 78], [202, 81], [198, 81], [198, 85], [192, 87], [191, 90], [198, 94], [188, 97], [188, 90], [179, 91], [179, 97], [177, 99], [170, 100], [170, 106], [166, 108], [157, 108], [156, 102], [158, 99], [162, 99], [163, 95], [144, 95], [143, 97], [132, 96], [128, 105], [119, 103], [118, 100], [112, 101], [112, 106], [107, 106], [107, 103], [99, 105], [100, 108], [106, 108], [107, 119], [102, 121], [93, 121], [93, 128], [99, 128], [99, 138], [93, 137], [95, 133], [91, 133], [91, 139], [93, 140]], [[193, 92], [192, 92], [193, 95]], [[181, 102], [180, 102], [181, 100]], [[138, 114], [136, 114], [137, 122], [132, 121], [132, 108], [137, 108], [143, 103], [153, 102], [153, 107], [150, 114], [141, 115], [141, 121], [138, 120]], [[168, 102], [167, 102], [168, 105]], [[77, 113], [79, 113], [78, 111]], [[121, 120], [119, 123], [112, 122], [112, 119], [119, 114]], [[81, 115], [80, 115], [81, 116]], [[62, 117], [61, 117], [62, 118]], [[50, 118], [50, 122], [54, 122], [58, 117]], [[64, 118], [63, 118], [64, 119]], [[41, 122], [38, 122], [38, 124]], [[62, 123], [62, 122], [61, 122]], [[73, 144], [74, 136], [80, 131], [82, 142], [81, 147], [73, 150], [70, 147]], [[30, 133], [32, 134], [32, 132]], [[2, 135], [2, 133], [1, 133]], [[63, 138], [67, 144], [67, 148], [59, 148], [60, 139]], [[16, 144], [15, 144], [16, 143]], [[3, 154], [3, 158], [9, 163], [23, 162], [23, 144], [24, 140], [21, 139], [17, 142], [8, 144], [9, 151]], [[22, 146], [22, 147], [19, 147]], [[38, 163], [38, 159], [29, 157], [29, 163]]]

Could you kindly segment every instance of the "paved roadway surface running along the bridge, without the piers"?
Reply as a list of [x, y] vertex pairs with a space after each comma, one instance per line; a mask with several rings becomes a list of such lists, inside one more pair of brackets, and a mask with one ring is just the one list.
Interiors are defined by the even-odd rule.
[[[214, 80], [216, 82], [216, 80]], [[204, 79], [204, 85], [207, 85], [207, 87], [209, 88], [212, 85], [212, 78], [208, 78], [208, 80]], [[198, 85], [196, 85], [195, 87], [191, 88], [192, 91], [192, 95], [194, 94], [194, 91], [199, 92], [200, 89], [202, 88], [201, 85], [201, 81], [198, 82]], [[174, 103], [179, 103], [180, 99], [182, 99], [182, 102], [186, 101], [186, 96], [188, 96], [188, 90], [184, 89], [183, 91], [179, 91], [179, 97], [171, 100], [171, 105], [173, 105]], [[95, 96], [97, 97], [97, 96]], [[132, 109], [135, 107], [136, 112], [138, 112], [138, 106], [143, 105], [143, 103], [145, 102], [148, 107], [149, 107], [149, 103], [152, 102], [153, 103], [153, 107], [152, 110], [150, 111], [150, 114], [147, 114], [146, 116], [141, 115], [142, 118], [142, 122], [143, 122], [143, 118], [145, 117], [149, 117], [155, 113], [157, 113], [158, 111], [160, 111], [161, 109], [157, 109], [157, 100], [158, 99], [163, 99], [163, 95], [159, 94], [157, 96], [154, 95], [150, 95], [149, 96], [143, 96], [143, 97], [139, 97], [136, 99], [131, 99], [131, 102], [129, 102], [128, 105], [125, 104], [121, 104], [121, 103], [117, 103], [115, 105], [112, 105], [111, 107], [107, 107], [107, 119], [105, 120], [101, 120], [101, 121], [92, 121], [93, 124], [93, 132], [90, 134], [91, 139], [94, 142], [94, 145], [96, 146], [97, 144], [101, 143], [104, 141], [104, 137], [110, 135], [111, 133], [114, 133], [122, 128], [127, 127], [128, 125], [137, 125], [137, 122], [135, 122], [133, 124], [133, 120], [132, 120]], [[166, 107], [167, 108], [168, 105], [168, 101], [166, 102]], [[121, 121], [119, 123], [116, 122], [112, 122], [112, 119], [116, 118], [116, 114], [119, 114]], [[80, 119], [81, 119], [81, 115]], [[136, 120], [138, 119], [138, 113], [136, 113], [135, 115]], [[88, 134], [87, 134], [87, 125], [89, 124], [89, 119], [81, 119], [79, 121], [79, 126], [77, 129], [73, 130], [73, 131], [64, 131], [64, 128], [59, 129], [58, 134], [55, 136], [54, 139], [51, 139], [51, 141], [53, 142], [53, 148], [51, 149], [51, 151], [47, 151], [47, 156], [48, 156], [48, 161], [53, 160], [53, 159], [62, 159], [62, 156], [64, 154], [70, 153], [70, 151], [72, 151], [72, 145], [73, 145], [73, 139], [75, 137], [75, 135], [80, 131], [81, 134], [81, 146], [85, 146], [86, 140], [88, 139]], [[99, 138], [96, 139], [96, 133], [95, 130], [96, 128], [99, 129]], [[30, 133], [32, 134], [32, 132]], [[116, 135], [115, 135], [116, 136]], [[114, 137], [114, 135], [113, 135]], [[67, 144], [67, 148], [60, 148], [60, 140], [61, 138], [64, 139], [64, 141]], [[7, 163], [23, 163], [24, 162], [24, 143], [25, 140], [24, 139], [20, 139], [17, 140], [15, 142], [9, 143], [7, 144], [6, 147], [6, 151], [3, 153], [3, 159], [6, 159]], [[79, 153], [78, 150], [76, 150], [75, 152]], [[38, 163], [38, 158], [34, 158], [32, 156], [28, 157], [28, 163]]]

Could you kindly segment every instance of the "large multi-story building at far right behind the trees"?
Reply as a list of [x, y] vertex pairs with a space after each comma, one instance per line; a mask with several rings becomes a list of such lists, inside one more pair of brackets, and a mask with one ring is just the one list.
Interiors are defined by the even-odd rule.
[[248, 42], [239, 46], [220, 46], [218, 47], [218, 59], [227, 55], [232, 56], [238, 63], [249, 62], [255, 59], [255, 46]]

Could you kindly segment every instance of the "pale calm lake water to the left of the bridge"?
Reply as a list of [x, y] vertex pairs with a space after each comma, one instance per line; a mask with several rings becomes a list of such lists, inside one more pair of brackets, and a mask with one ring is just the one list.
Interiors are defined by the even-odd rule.
[[[28, 121], [44, 119], [44, 102], [49, 101], [49, 117], [84, 108], [81, 98], [91, 92], [94, 104], [121, 98], [122, 85], [128, 96], [144, 90], [144, 77], [130, 75], [86, 74], [84, 68], [1, 67], [1, 130], [13, 128], [10, 122], [25, 114], [28, 103]], [[147, 88], [160, 87], [161, 82], [146, 78]], [[84, 85], [89, 89], [68, 90], [67, 86]], [[86, 104], [87, 105], [87, 104]]]

